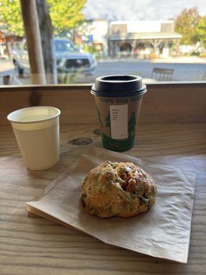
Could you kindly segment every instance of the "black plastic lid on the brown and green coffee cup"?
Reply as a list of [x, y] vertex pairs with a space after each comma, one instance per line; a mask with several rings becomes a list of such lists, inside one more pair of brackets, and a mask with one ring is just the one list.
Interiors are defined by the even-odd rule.
[[106, 97], [136, 96], [146, 93], [141, 76], [100, 76], [91, 87], [91, 94]]

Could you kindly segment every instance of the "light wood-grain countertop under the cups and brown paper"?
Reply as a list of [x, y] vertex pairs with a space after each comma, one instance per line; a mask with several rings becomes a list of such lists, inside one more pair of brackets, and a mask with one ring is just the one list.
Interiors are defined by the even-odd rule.
[[196, 192], [187, 264], [155, 259], [107, 245], [92, 236], [28, 215], [25, 202], [43, 190], [76, 161], [88, 145], [71, 140], [89, 138], [101, 146], [97, 124], [60, 127], [60, 162], [45, 171], [23, 164], [10, 126], [0, 126], [0, 274], [116, 275], [206, 274], [205, 123], [139, 124], [135, 147], [126, 154], [179, 168], [196, 170]]

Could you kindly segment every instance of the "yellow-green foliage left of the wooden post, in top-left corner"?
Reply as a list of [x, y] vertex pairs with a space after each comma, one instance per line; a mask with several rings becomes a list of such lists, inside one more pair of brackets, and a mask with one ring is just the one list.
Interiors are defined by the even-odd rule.
[[23, 36], [20, 0], [0, 0], [0, 23], [11, 34]]

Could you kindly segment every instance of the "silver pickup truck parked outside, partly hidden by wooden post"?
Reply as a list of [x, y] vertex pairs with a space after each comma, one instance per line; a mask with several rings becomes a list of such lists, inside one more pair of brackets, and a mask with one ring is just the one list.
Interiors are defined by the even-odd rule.
[[[54, 39], [55, 57], [58, 72], [76, 74], [95, 74], [97, 62], [92, 54], [82, 53], [69, 39]], [[14, 66], [18, 74], [30, 72], [27, 43], [23, 40], [21, 47], [12, 50]]]

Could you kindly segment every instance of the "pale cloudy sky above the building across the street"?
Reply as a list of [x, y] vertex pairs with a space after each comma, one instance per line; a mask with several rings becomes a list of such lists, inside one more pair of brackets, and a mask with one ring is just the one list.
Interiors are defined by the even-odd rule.
[[166, 20], [174, 19], [184, 8], [196, 6], [206, 15], [206, 0], [87, 0], [87, 19]]

